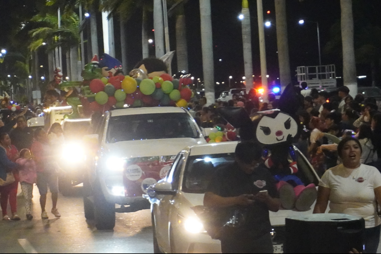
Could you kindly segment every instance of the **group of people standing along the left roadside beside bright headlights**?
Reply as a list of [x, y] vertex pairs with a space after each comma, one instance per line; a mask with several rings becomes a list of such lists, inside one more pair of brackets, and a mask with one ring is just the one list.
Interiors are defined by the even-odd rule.
[[[25, 198], [26, 218], [33, 219], [32, 197], [36, 183], [40, 192], [42, 219], [48, 219], [45, 210], [48, 186], [53, 207], [51, 213], [61, 217], [57, 210], [58, 200], [58, 158], [54, 156], [54, 147], [62, 140], [60, 124], [53, 124], [49, 135], [43, 129], [32, 130], [27, 127], [24, 117], [26, 110], [0, 127], [0, 204], [3, 220], [18, 221], [17, 192], [19, 183], [21, 194]], [[16, 128], [12, 128], [16, 125]], [[10, 126], [10, 128], [8, 128]], [[6, 127], [6, 128], [5, 128]], [[11, 216], [8, 216], [8, 200]]]

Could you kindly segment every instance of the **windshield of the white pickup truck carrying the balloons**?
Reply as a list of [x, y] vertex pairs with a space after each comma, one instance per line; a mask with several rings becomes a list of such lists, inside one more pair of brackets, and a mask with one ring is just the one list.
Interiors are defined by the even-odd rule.
[[106, 142], [199, 137], [187, 113], [139, 114], [110, 117]]

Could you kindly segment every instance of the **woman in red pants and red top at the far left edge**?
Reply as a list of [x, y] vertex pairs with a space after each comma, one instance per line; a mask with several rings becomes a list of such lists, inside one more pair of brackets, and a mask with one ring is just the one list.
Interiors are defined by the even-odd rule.
[[[18, 165], [14, 163], [16, 159], [19, 157], [19, 152], [17, 151], [17, 148], [11, 144], [11, 139], [9, 138], [7, 133], [0, 133], [0, 164], [2, 164], [2, 169], [5, 171], [8, 171], [9, 169], [13, 170], [13, 176], [16, 181], [13, 183], [1, 186], [0, 187], [0, 204], [1, 208], [3, 210], [3, 220], [8, 221], [9, 219], [12, 219], [14, 221], [19, 221], [20, 217], [16, 214], [17, 212], [17, 187], [19, 184], [19, 178], [18, 178], [18, 172], [15, 171], [16, 168], [18, 168]], [[4, 152], [4, 154], [3, 154]], [[3, 157], [5, 155], [5, 157]], [[1, 177], [1, 176], [0, 176]], [[6, 180], [1, 177], [3, 180]], [[11, 212], [12, 217], [9, 218], [7, 215], [7, 206], [8, 206], [8, 199], [9, 204], [11, 206]]]

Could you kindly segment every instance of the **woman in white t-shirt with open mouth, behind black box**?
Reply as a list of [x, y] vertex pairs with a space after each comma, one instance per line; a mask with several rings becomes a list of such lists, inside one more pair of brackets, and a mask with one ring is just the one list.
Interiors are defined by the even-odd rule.
[[322, 176], [314, 213], [324, 213], [330, 201], [329, 213], [345, 213], [365, 220], [365, 253], [376, 253], [381, 220], [376, 202], [381, 203], [381, 174], [375, 168], [360, 163], [362, 148], [359, 140], [344, 138], [338, 145], [343, 164], [330, 168]]

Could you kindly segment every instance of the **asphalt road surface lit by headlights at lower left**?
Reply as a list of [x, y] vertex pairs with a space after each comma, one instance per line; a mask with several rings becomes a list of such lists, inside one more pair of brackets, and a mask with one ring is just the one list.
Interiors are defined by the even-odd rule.
[[41, 219], [36, 186], [32, 221], [26, 220], [24, 198], [18, 197], [21, 220], [0, 221], [0, 253], [153, 253], [150, 210], [117, 213], [114, 230], [97, 230], [85, 219], [81, 191], [82, 187], [75, 187], [70, 197], [59, 194], [61, 218], [50, 213], [48, 193], [48, 220]]

